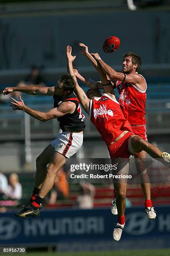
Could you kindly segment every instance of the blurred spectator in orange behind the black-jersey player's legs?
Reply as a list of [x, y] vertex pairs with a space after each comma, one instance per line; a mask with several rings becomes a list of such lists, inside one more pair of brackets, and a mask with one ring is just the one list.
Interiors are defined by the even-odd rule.
[[66, 174], [62, 168], [57, 172], [54, 187], [52, 188], [50, 195], [50, 204], [55, 204], [57, 200], [62, 200], [69, 194], [69, 184], [66, 179]]

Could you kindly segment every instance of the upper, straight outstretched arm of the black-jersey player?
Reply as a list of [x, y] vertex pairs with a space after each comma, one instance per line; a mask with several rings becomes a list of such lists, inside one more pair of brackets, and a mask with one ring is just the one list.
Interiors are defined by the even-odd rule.
[[36, 87], [36, 86], [24, 86], [24, 87], [6, 87], [2, 92], [4, 95], [10, 92], [24, 92], [30, 95], [54, 95], [54, 86], [52, 87]]

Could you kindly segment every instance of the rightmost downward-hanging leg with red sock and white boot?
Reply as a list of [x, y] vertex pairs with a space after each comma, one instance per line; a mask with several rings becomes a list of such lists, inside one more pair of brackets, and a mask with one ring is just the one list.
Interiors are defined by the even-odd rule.
[[134, 157], [135, 157], [136, 169], [138, 174], [140, 175], [140, 182], [141, 182], [140, 184], [145, 197], [145, 210], [146, 210], [147, 216], [150, 220], [155, 219], [156, 212], [154, 210], [151, 197], [150, 197], [150, 179], [145, 166], [146, 152], [141, 151], [139, 154], [136, 154]]

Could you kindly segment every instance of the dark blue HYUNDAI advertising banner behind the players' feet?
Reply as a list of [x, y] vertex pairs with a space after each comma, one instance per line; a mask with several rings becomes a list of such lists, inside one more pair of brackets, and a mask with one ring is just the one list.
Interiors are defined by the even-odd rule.
[[[170, 208], [157, 207], [157, 218], [148, 220], [144, 208], [128, 208], [121, 241], [170, 240]], [[112, 241], [117, 216], [110, 209], [41, 210], [40, 218], [0, 214], [0, 246], [50, 246], [80, 241]], [[115, 242], [115, 241], [114, 241]], [[117, 242], [115, 242], [117, 243]], [[120, 243], [119, 243], [120, 244]]]

